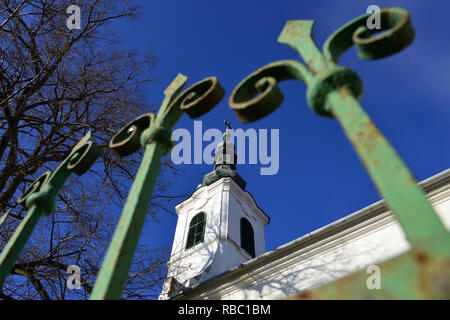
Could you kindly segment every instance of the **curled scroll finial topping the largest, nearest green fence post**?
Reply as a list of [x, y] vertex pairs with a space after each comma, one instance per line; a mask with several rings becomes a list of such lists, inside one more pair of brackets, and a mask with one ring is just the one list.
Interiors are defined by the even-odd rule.
[[[229, 105], [244, 122], [261, 119], [277, 109], [283, 95], [277, 82], [297, 79], [308, 86], [307, 100], [316, 113], [333, 117], [325, 104], [328, 93], [346, 88], [359, 100], [362, 83], [352, 70], [336, 65], [342, 53], [356, 45], [361, 59], [380, 59], [407, 47], [414, 39], [409, 13], [401, 8], [386, 8], [379, 12], [381, 30], [368, 29], [364, 14], [345, 24], [325, 42], [323, 53], [312, 38], [314, 21], [288, 21], [278, 41], [300, 53], [306, 66], [298, 61], [285, 60], [270, 63], [255, 71], [233, 90]], [[380, 35], [371, 37], [375, 32]]]

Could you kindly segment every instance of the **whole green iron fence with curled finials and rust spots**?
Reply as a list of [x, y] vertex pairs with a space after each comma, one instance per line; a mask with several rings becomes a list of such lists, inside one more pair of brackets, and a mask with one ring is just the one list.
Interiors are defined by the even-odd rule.
[[[326, 40], [322, 52], [312, 38], [314, 21], [288, 21], [278, 41], [293, 47], [306, 65], [295, 60], [270, 63], [244, 79], [232, 92], [229, 105], [244, 122], [261, 119], [281, 105], [277, 82], [296, 79], [307, 85], [310, 108], [336, 118], [363, 165], [403, 228], [411, 249], [380, 265], [383, 290], [366, 287], [365, 270], [301, 292], [299, 299], [432, 299], [450, 298], [450, 234], [401, 158], [359, 104], [362, 82], [352, 70], [339, 66], [344, 51], [356, 45], [361, 59], [380, 59], [407, 47], [414, 38], [409, 13], [401, 8], [379, 12], [381, 30], [368, 29], [370, 14], [355, 18]], [[378, 35], [373, 33], [381, 31]], [[145, 213], [158, 176], [161, 157], [172, 147], [171, 131], [183, 112], [196, 118], [224, 96], [217, 78], [206, 78], [181, 92], [187, 77], [178, 75], [166, 89], [155, 116], [144, 114], [122, 128], [110, 142], [120, 156], [145, 149], [122, 215], [97, 276], [90, 299], [119, 299], [128, 277]], [[181, 92], [181, 93], [180, 93]], [[98, 157], [98, 148], [86, 135], [54, 173], [46, 172], [21, 196], [29, 213], [0, 255], [0, 284], [43, 214], [54, 208], [53, 198], [65, 180], [84, 173]], [[0, 225], [8, 213], [0, 218]]]

